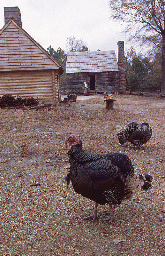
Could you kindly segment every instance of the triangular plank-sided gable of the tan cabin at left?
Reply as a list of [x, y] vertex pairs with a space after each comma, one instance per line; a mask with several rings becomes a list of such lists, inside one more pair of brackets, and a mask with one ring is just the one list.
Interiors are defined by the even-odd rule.
[[12, 18], [0, 30], [0, 71], [58, 69], [62, 66]]

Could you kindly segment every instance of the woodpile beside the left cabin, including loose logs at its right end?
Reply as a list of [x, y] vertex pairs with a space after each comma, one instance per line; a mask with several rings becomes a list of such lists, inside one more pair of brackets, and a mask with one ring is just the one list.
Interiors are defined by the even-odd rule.
[[40, 108], [46, 106], [44, 102], [40, 101], [38, 103], [38, 99], [34, 99], [33, 97], [28, 97], [22, 99], [21, 96], [12, 96], [10, 94], [4, 94], [0, 97], [0, 108]]

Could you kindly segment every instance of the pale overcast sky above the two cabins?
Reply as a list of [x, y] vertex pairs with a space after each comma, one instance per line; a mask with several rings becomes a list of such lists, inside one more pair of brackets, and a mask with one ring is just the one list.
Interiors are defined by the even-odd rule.
[[124, 25], [110, 18], [108, 0], [0, 0], [0, 28], [4, 26], [4, 6], [18, 6], [22, 28], [45, 49], [60, 46], [67, 51], [67, 37], [83, 39], [88, 50], [115, 50], [127, 39]]

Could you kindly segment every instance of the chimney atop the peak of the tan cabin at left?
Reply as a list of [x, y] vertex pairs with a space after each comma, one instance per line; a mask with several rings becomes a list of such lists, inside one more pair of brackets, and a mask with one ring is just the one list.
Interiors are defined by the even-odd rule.
[[4, 7], [4, 25], [11, 19], [22, 27], [21, 12], [18, 7]]

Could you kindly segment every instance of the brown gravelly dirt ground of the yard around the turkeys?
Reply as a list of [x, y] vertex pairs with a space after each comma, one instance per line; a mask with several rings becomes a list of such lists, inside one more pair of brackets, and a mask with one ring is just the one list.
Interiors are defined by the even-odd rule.
[[[115, 98], [114, 110], [105, 109], [102, 95], [39, 110], [0, 109], [0, 256], [164, 255], [165, 101]], [[118, 143], [116, 124], [132, 120], [154, 126], [144, 150]], [[66, 189], [64, 141], [71, 133], [79, 134], [89, 151], [126, 154], [136, 172], [154, 176], [154, 187], [114, 207], [110, 224], [100, 221], [108, 205], [98, 207], [94, 223], [83, 221], [94, 202], [71, 184]]]

